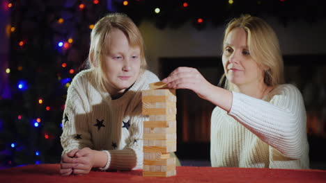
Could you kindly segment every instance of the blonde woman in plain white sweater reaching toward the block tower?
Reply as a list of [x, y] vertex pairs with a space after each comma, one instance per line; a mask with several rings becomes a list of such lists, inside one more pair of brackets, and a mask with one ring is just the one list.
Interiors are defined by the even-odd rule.
[[212, 166], [309, 168], [304, 102], [295, 86], [281, 85], [283, 60], [272, 28], [250, 15], [233, 19], [225, 30], [222, 62], [226, 89], [188, 67], [162, 80], [217, 105]]

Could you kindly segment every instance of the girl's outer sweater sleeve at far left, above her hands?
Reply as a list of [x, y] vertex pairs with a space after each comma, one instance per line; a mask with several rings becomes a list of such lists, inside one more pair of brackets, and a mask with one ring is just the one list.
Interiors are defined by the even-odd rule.
[[75, 148], [93, 148], [91, 134], [88, 132], [88, 120], [81, 98], [79, 92], [70, 85], [62, 120], [62, 155]]

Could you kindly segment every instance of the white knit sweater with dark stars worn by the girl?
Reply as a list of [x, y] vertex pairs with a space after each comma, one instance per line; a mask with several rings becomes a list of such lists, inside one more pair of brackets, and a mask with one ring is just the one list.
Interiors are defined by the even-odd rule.
[[159, 79], [145, 71], [121, 98], [112, 100], [93, 83], [93, 69], [78, 73], [68, 89], [63, 112], [63, 154], [74, 148], [104, 150], [106, 170], [143, 167], [141, 90]]

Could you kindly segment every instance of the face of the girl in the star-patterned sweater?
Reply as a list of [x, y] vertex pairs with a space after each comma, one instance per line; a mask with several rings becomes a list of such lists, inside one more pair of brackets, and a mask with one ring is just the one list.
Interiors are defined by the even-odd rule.
[[141, 67], [139, 47], [130, 47], [125, 34], [114, 28], [109, 51], [104, 62], [107, 69], [107, 89], [111, 95], [122, 94], [137, 80]]

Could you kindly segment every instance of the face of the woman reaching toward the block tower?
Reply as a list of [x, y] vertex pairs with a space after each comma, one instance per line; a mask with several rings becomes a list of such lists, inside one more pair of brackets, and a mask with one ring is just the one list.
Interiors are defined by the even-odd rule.
[[222, 62], [226, 78], [238, 87], [263, 81], [263, 69], [250, 56], [243, 28], [234, 28], [228, 33]]

